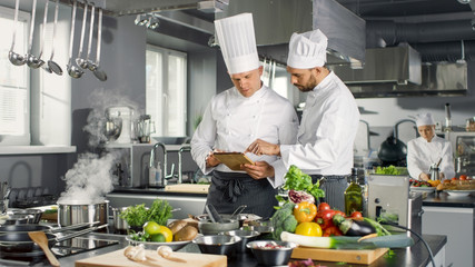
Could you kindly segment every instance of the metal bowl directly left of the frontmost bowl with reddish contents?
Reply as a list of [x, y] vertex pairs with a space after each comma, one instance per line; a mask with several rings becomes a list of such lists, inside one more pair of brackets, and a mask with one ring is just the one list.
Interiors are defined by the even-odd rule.
[[202, 254], [226, 255], [228, 257], [234, 255], [239, 241], [241, 241], [240, 237], [226, 235], [201, 236], [192, 240]]

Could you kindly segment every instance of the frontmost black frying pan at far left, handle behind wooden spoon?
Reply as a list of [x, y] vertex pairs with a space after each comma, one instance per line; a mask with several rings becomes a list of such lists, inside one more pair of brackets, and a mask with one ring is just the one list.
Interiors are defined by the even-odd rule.
[[[46, 234], [48, 238], [48, 247], [51, 248], [55, 244], [71, 239], [73, 237], [82, 236], [88, 233], [101, 229], [108, 225], [95, 226], [80, 231], [58, 237], [53, 234]], [[44, 255], [43, 250], [34, 241], [30, 239], [28, 233], [7, 233], [0, 235], [0, 253], [9, 254], [27, 254], [27, 255]]]

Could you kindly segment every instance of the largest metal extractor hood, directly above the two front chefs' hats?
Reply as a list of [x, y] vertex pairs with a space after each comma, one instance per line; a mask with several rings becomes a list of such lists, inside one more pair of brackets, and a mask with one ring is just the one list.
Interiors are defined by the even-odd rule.
[[259, 53], [286, 62], [294, 32], [320, 29], [328, 37], [328, 65], [364, 63], [366, 22], [335, 0], [231, 0], [216, 19], [253, 13]]

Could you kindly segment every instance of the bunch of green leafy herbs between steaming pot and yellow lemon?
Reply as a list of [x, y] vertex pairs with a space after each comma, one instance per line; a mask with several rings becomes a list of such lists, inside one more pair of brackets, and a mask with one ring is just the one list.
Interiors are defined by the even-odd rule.
[[171, 206], [167, 200], [161, 199], [154, 200], [150, 208], [145, 207], [145, 204], [129, 206], [119, 215], [120, 218], [125, 219], [132, 227], [142, 227], [147, 221], [156, 221], [165, 226], [171, 216]]

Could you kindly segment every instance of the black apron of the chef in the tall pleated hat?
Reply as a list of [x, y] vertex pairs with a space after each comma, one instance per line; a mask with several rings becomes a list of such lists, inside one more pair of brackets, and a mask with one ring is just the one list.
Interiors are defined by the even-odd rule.
[[256, 180], [247, 174], [215, 170], [206, 204], [215, 206], [219, 214], [232, 214], [239, 206], [247, 205], [243, 214], [268, 219], [278, 206], [277, 194], [267, 179]]

